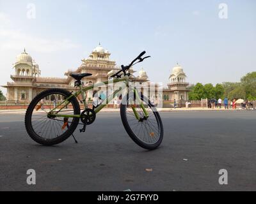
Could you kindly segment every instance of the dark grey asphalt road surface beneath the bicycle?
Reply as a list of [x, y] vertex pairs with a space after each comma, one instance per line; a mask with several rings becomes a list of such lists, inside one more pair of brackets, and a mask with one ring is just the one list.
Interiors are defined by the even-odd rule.
[[[118, 113], [100, 113], [86, 133], [56, 147], [33, 142], [23, 113], [0, 113], [0, 190], [256, 190], [256, 112], [164, 112], [164, 140], [138, 147]], [[60, 160], [61, 159], [61, 160]], [[36, 185], [26, 171], [36, 171]], [[152, 168], [152, 171], [145, 169]], [[227, 169], [228, 185], [218, 184]]]

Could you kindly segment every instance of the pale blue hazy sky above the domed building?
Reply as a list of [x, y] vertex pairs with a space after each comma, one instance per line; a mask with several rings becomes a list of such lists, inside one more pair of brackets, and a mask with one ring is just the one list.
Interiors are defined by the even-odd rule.
[[118, 66], [146, 50], [134, 69], [152, 82], [167, 84], [177, 62], [190, 84], [238, 82], [256, 71], [256, 1], [0, 0], [0, 85], [24, 47], [42, 77], [65, 77], [99, 42]]

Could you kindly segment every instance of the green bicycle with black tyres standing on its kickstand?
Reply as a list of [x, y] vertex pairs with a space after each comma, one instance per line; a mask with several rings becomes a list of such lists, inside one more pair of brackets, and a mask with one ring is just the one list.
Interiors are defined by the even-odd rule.
[[[130, 73], [127, 72], [134, 64], [150, 57], [141, 58], [145, 53], [145, 51], [142, 52], [128, 66], [122, 65], [122, 69], [112, 75], [110, 77], [112, 80], [108, 82], [100, 82], [89, 87], [83, 87], [82, 78], [92, 74], [73, 73], [70, 76], [76, 79], [75, 86], [79, 88], [79, 91], [73, 93], [65, 89], [48, 89], [38, 94], [31, 101], [26, 111], [25, 126], [28, 135], [35, 142], [42, 145], [56, 145], [71, 135], [74, 137], [73, 133], [79, 124], [83, 125], [80, 132], [84, 132], [86, 126], [95, 121], [96, 114], [125, 89], [127, 94], [120, 105], [120, 115], [125, 130], [140, 147], [148, 150], [159, 147], [163, 140], [161, 117], [151, 101], [139, 93], [136, 87], [129, 85], [131, 78], [129, 78]], [[102, 83], [105, 85], [110, 83], [123, 85], [116, 90], [114, 89], [113, 93], [99, 105], [88, 108], [86, 92], [102, 86]], [[81, 112], [81, 107], [77, 101], [79, 96], [82, 98], [83, 112]], [[74, 140], [76, 141], [75, 137]]]

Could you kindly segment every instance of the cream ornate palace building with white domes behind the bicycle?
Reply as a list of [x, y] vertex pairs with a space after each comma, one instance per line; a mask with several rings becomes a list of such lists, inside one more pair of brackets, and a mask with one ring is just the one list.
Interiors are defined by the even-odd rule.
[[[6, 99], [7, 101], [13, 101], [14, 103], [29, 103], [36, 94], [50, 88], [61, 88], [69, 91], [75, 91], [74, 78], [70, 77], [70, 73], [92, 73], [92, 76], [83, 78], [84, 86], [93, 85], [97, 82], [107, 81], [108, 78], [120, 70], [116, 66], [115, 61], [111, 61], [110, 53], [104, 49], [101, 45], [98, 45], [93, 49], [88, 58], [82, 59], [81, 66], [75, 71], [68, 70], [64, 73], [65, 78], [56, 77], [41, 77], [41, 70], [35, 60], [29, 55], [26, 50], [17, 55], [14, 63], [15, 71], [11, 75], [13, 82], [7, 82], [2, 87], [7, 89]], [[133, 77], [134, 82], [140, 82], [140, 84], [150, 83], [148, 80], [147, 72], [141, 69], [138, 72], [138, 76], [135, 77], [132, 68], [129, 71]], [[177, 64], [172, 69], [172, 73], [169, 77], [169, 84], [167, 87], [163, 87], [163, 94], [149, 93], [150, 98], [157, 98], [163, 101], [173, 101], [176, 99], [188, 101], [188, 82], [186, 82], [186, 74], [182, 67]], [[88, 94], [88, 98], [92, 98]]]

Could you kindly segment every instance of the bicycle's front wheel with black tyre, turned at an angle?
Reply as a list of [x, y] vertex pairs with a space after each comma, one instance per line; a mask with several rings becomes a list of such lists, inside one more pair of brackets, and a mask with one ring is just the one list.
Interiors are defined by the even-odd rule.
[[[124, 128], [132, 140], [143, 147], [144, 149], [154, 150], [161, 144], [163, 140], [163, 122], [157, 109], [152, 103], [143, 95], [141, 101], [148, 112], [147, 119], [145, 113], [140, 105], [137, 105], [136, 100], [133, 99], [133, 94], [127, 94], [127, 97], [120, 106], [121, 119]], [[138, 113], [140, 120], [134, 114], [134, 110]]]

